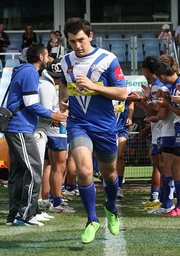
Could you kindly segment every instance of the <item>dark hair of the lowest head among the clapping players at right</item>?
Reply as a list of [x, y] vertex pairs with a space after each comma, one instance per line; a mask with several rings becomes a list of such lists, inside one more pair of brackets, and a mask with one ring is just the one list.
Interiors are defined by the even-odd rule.
[[172, 69], [169, 63], [165, 61], [158, 60], [154, 67], [155, 75], [166, 75], [166, 76], [172, 76], [175, 74], [175, 70]]

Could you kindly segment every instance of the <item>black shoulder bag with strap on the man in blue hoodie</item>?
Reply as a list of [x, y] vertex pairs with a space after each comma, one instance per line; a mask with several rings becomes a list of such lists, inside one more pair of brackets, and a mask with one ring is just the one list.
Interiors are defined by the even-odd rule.
[[13, 113], [10, 110], [8, 110], [8, 108], [3, 107], [5, 98], [8, 95], [8, 91], [10, 90], [10, 84], [7, 88], [7, 91], [5, 92], [4, 99], [2, 100], [1, 107], [0, 107], [0, 133], [5, 133], [5, 131], [7, 130], [7, 126], [8, 126], [8, 122], [9, 122], [10, 118], [13, 117], [14, 114], [16, 114], [23, 107], [25, 107], [25, 104], [23, 103], [22, 105], [17, 107]]

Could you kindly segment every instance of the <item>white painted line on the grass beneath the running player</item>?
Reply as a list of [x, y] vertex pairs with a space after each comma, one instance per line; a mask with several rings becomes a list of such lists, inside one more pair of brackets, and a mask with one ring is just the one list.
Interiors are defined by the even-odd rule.
[[122, 226], [121, 211], [118, 209], [119, 222], [120, 222], [120, 231], [117, 236], [110, 234], [109, 229], [107, 228], [107, 217], [105, 223], [105, 242], [104, 242], [104, 252], [105, 256], [127, 256], [127, 251], [125, 247], [124, 231]]

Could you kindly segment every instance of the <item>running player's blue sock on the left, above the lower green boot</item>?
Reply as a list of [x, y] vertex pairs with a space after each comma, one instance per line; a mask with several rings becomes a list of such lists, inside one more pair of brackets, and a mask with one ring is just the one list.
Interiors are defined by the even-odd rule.
[[95, 212], [95, 186], [92, 182], [88, 187], [83, 187], [78, 183], [78, 189], [80, 198], [82, 199], [86, 213], [88, 214], [88, 220], [97, 222], [97, 216]]

